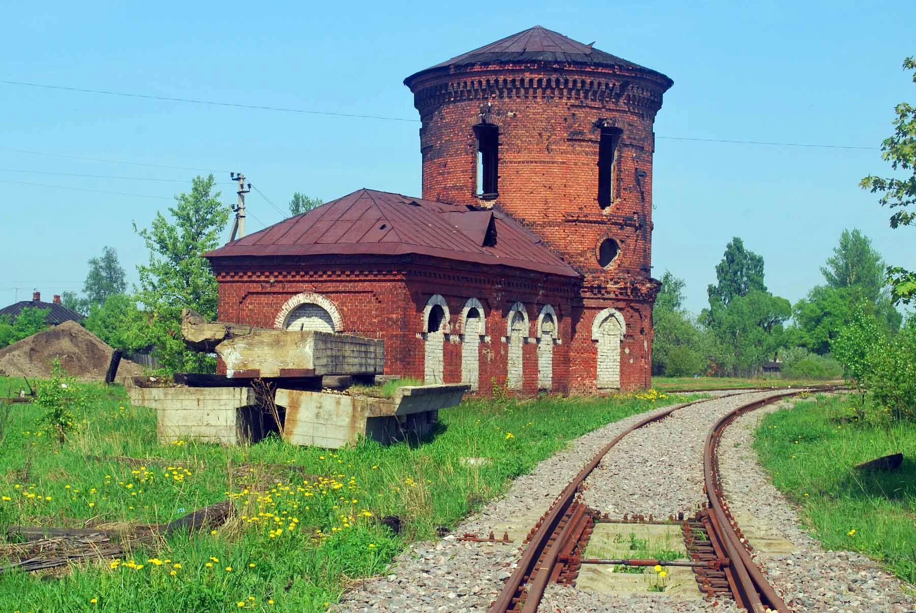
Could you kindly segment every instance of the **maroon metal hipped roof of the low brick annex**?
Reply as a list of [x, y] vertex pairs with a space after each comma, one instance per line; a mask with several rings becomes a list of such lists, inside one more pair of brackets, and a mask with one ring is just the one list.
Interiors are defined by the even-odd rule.
[[[495, 233], [488, 232], [491, 229]], [[203, 257], [329, 254], [420, 254], [579, 276], [537, 235], [506, 213], [365, 189], [227, 243]]]

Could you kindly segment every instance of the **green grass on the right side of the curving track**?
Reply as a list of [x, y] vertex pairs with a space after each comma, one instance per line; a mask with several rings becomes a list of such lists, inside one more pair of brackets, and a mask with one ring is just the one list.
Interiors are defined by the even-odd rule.
[[[852, 404], [849, 396], [819, 397], [772, 413], [755, 446], [824, 547], [867, 553], [916, 583], [916, 427], [851, 419]], [[898, 452], [899, 471], [855, 468]]]

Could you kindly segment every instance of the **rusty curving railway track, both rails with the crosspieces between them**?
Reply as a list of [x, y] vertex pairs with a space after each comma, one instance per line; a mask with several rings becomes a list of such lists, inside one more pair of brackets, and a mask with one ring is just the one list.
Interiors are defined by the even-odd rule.
[[[818, 391], [833, 388], [816, 388]], [[695, 517], [671, 517], [667, 521], [653, 520], [654, 523], [680, 523], [691, 561], [668, 565], [692, 566], [697, 584], [709, 597], [732, 597], [739, 607], [753, 613], [768, 611], [784, 612], [788, 608], [766, 580], [766, 577], [751, 559], [751, 547], [732, 518], [722, 494], [718, 474], [716, 448], [722, 432], [736, 417], [760, 407], [784, 400], [812, 389], [791, 389], [763, 400], [750, 401], [732, 410], [715, 422], [703, 445], [703, 489], [706, 495], [705, 508]], [[728, 396], [737, 396], [736, 392]], [[720, 397], [722, 398], [722, 397]], [[529, 532], [527, 546], [522, 552], [515, 571], [507, 578], [499, 596], [491, 605], [490, 613], [534, 613], [537, 611], [544, 590], [550, 583], [574, 585], [575, 576], [583, 563], [586, 564], [628, 564], [654, 566], [666, 564], [659, 560], [583, 560], [585, 545], [595, 522], [616, 521], [601, 517], [598, 511], [589, 509], [578, 494], [583, 483], [605, 454], [627, 434], [661, 421], [671, 413], [715, 399], [696, 400], [663, 410], [647, 417], [618, 434], [607, 443], [594, 458], [573, 477], [554, 501], [551, 509]], [[624, 521], [644, 521], [646, 518], [627, 518]]]

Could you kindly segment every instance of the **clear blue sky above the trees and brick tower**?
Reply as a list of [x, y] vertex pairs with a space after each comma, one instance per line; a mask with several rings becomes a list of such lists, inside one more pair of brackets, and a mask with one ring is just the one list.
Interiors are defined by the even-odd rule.
[[[655, 125], [653, 274], [686, 279], [693, 311], [734, 235], [793, 302], [823, 281], [846, 227], [912, 267], [912, 231], [890, 230], [857, 187], [888, 172], [878, 150], [672, 137], [877, 148], [894, 105], [916, 102], [900, 70], [916, 54], [916, 3], [739, 4], [17, 3], [0, 80], [416, 119], [404, 77], [540, 24], [674, 80]], [[20, 300], [80, 290], [104, 245], [135, 281], [147, 252], [132, 222], [148, 225], [197, 173], [213, 170], [230, 203], [228, 172], [245, 172], [282, 210], [296, 191], [420, 195], [415, 122], [11, 84], [0, 116], [0, 304], [15, 287]], [[257, 193], [247, 203], [249, 231], [281, 218]]]

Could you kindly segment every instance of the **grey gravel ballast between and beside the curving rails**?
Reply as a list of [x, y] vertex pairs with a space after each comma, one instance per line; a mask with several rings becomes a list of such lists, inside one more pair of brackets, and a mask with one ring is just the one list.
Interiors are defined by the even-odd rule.
[[[680, 510], [691, 512], [703, 500], [702, 445], [714, 421], [739, 403], [778, 393], [710, 400], [634, 432], [618, 443], [586, 481], [590, 488], [584, 493], [585, 502], [612, 516], [634, 511], [655, 513], [657, 517]], [[912, 610], [913, 599], [902, 593], [900, 583], [866, 558], [820, 550], [796, 528], [794, 511], [769, 485], [769, 478], [756, 462], [747, 463], [748, 457], [753, 457], [747, 444], [752, 426], [766, 410], [775, 409], [751, 413], [726, 430], [720, 448], [721, 468], [729, 479], [725, 491], [731, 508], [778, 523], [781, 535], [802, 551], [766, 561], [770, 577], [786, 594], [787, 602], [796, 613]], [[485, 533], [512, 518], [537, 518], [607, 441], [648, 414], [617, 421], [577, 439], [568, 450], [541, 462], [530, 475], [516, 479], [505, 497], [468, 518], [455, 533]], [[740, 444], [736, 447], [735, 443]], [[520, 552], [518, 542], [458, 542], [451, 536], [439, 542], [415, 543], [398, 556], [389, 575], [354, 586], [334, 610], [485, 611], [514, 569]], [[540, 605], [541, 612], [550, 613], [737, 610], [727, 599], [711, 603], [681, 602], [660, 595], [607, 597], [564, 586], [549, 586]]]

